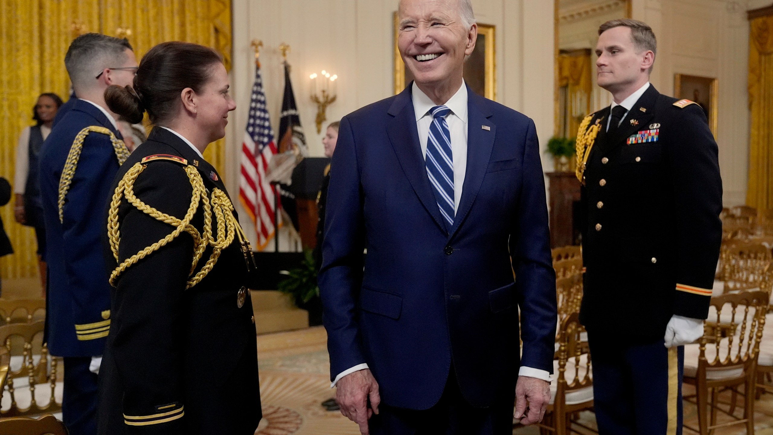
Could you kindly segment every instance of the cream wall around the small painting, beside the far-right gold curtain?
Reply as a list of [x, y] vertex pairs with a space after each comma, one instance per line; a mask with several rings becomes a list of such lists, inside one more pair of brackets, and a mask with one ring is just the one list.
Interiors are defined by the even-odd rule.
[[647, 22], [658, 36], [652, 84], [660, 92], [673, 95], [674, 74], [719, 79], [717, 144], [724, 204], [744, 204], [749, 148], [746, 11], [770, 5], [771, 0], [633, 1], [634, 18]]

